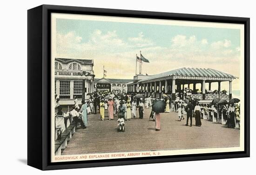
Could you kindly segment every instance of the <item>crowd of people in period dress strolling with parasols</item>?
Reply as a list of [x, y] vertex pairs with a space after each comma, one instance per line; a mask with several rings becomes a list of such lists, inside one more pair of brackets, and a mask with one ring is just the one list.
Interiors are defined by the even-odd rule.
[[[192, 92], [185, 88], [183, 93], [177, 93], [175, 99], [169, 95], [163, 94], [159, 99], [153, 100], [152, 96], [145, 98], [144, 95], [138, 96], [135, 93], [109, 93], [109, 92], [95, 92], [86, 95], [85, 100], [81, 101], [81, 105], [78, 100], [74, 100], [74, 105], [71, 106], [71, 111], [67, 113], [62, 111], [62, 107], [59, 104], [59, 99], [55, 102], [55, 126], [57, 130], [64, 131], [67, 125], [70, 125], [73, 121], [76, 127], [81, 128], [88, 127], [88, 115], [91, 113], [100, 113], [101, 120], [104, 121], [105, 113], [108, 113], [108, 119], [113, 120], [114, 117], [118, 117], [118, 130], [124, 131], [125, 121], [130, 119], [143, 119], [144, 108], [151, 108], [149, 119], [155, 121], [155, 130], [160, 131], [160, 113], [155, 113], [152, 106], [158, 101], [162, 100], [165, 104], [164, 112], [170, 113], [175, 111], [178, 113], [179, 121], [185, 119], [184, 115], [187, 115], [186, 125], [192, 126], [192, 118], [195, 117], [195, 125], [201, 126], [201, 119], [208, 119], [210, 121], [219, 122], [218, 120], [222, 116], [222, 124], [225, 121], [225, 125], [230, 128], [235, 127], [235, 122], [240, 121], [240, 106], [237, 104], [199, 104], [196, 99], [188, 99]], [[138, 110], [139, 116], [136, 116]], [[107, 111], [107, 112], [106, 112]], [[219, 114], [218, 114], [219, 113]]]

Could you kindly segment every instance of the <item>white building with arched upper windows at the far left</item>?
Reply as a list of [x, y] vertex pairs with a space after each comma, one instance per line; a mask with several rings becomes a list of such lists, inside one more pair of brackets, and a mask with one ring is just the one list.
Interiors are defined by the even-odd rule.
[[55, 96], [61, 105], [81, 100], [83, 81], [86, 93], [94, 91], [93, 66], [94, 60], [55, 58]]

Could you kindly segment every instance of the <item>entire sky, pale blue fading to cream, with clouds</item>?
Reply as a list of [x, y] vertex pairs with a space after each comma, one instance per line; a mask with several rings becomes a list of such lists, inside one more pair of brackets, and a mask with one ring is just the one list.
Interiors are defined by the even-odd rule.
[[94, 59], [96, 78], [104, 65], [108, 78], [132, 79], [140, 50], [150, 62], [142, 74], [187, 67], [240, 77], [239, 29], [56, 19], [56, 56]]

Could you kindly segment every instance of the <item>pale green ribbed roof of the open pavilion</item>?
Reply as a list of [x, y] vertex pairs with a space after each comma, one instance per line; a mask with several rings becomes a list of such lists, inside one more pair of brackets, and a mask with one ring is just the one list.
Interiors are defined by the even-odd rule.
[[152, 75], [146, 79], [140, 80], [138, 82], [143, 82], [143, 81], [149, 81], [149, 80], [154, 80], [158, 78], [163, 78], [163, 77], [168, 77], [168, 76], [194, 76], [194, 77], [216, 77], [216, 78], [232, 78], [236, 79], [238, 77], [227, 74], [225, 72], [221, 72], [219, 70], [215, 69], [201, 69], [201, 68], [180, 68], [180, 69], [175, 69], [171, 70], [168, 72], [163, 72], [161, 74], [156, 74]]

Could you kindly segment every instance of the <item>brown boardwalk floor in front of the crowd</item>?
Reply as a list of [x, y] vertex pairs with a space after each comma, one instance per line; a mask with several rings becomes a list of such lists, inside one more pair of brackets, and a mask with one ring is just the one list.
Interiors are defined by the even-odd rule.
[[[185, 126], [177, 121], [177, 113], [161, 113], [161, 131], [155, 131], [155, 122], [144, 119], [126, 121], [126, 131], [117, 132], [117, 118], [100, 120], [100, 114], [88, 116], [89, 126], [78, 129], [62, 155], [147, 150], [179, 150], [239, 146], [240, 130], [202, 119], [202, 126]], [[107, 114], [107, 111], [105, 111]], [[138, 116], [138, 111], [137, 111]], [[185, 117], [186, 118], [186, 117]]]

